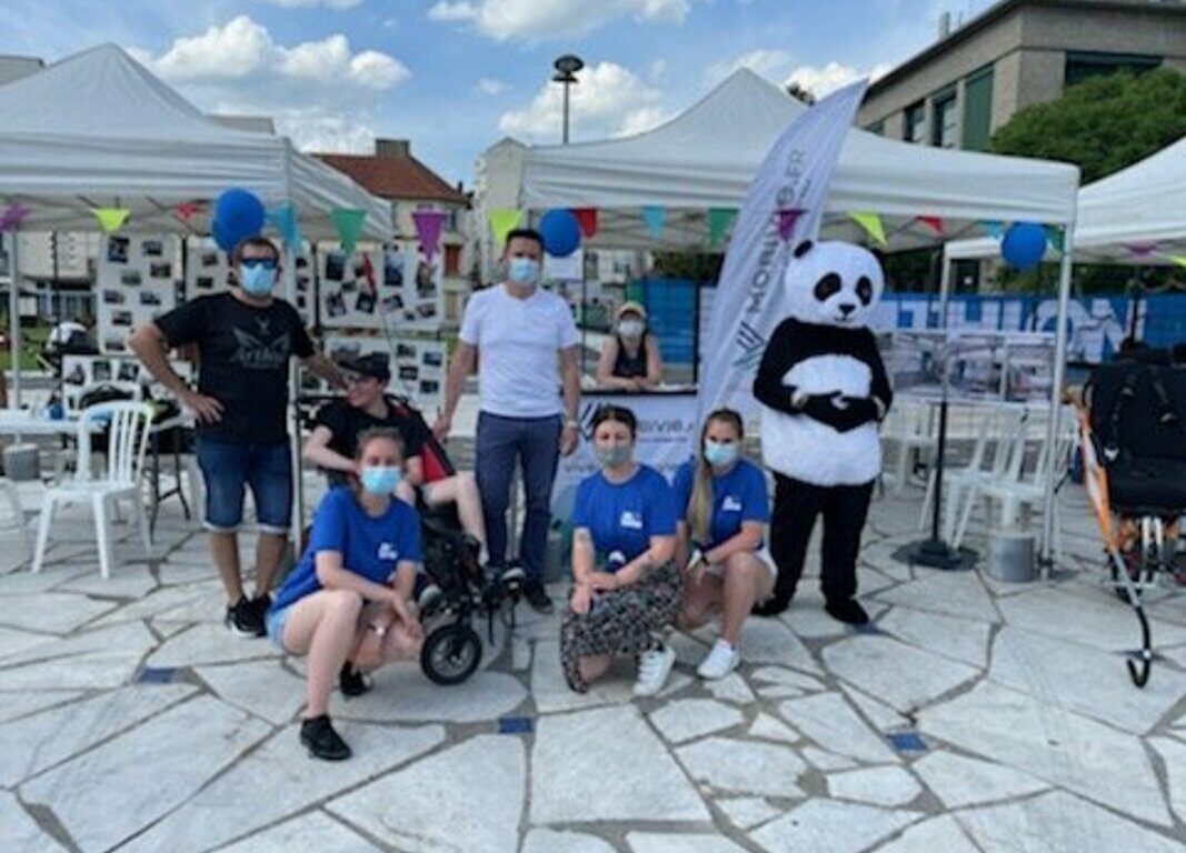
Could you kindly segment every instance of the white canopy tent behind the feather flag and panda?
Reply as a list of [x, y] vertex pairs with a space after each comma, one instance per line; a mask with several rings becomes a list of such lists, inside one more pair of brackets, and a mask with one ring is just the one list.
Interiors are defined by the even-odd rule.
[[[776, 136], [804, 109], [778, 86], [739, 70], [653, 130], [525, 149], [518, 206], [529, 211], [595, 207], [599, 231], [588, 242], [591, 246], [706, 248], [708, 210], [740, 206]], [[918, 217], [940, 218], [949, 237], [975, 227], [978, 220], [1028, 220], [1067, 229], [1051, 441], [1061, 408], [1078, 184], [1079, 169], [1066, 163], [910, 145], [854, 128], [833, 172], [825, 203], [825, 232], [852, 233], [849, 213], [876, 213], [886, 220], [891, 248], [899, 249], [936, 243], [935, 233], [918, 223]], [[665, 212], [658, 239], [643, 216], [649, 206]], [[944, 291], [949, 277], [945, 263]], [[940, 322], [946, 322], [945, 312]], [[1053, 476], [1047, 481], [1046, 556], [1052, 538]]]

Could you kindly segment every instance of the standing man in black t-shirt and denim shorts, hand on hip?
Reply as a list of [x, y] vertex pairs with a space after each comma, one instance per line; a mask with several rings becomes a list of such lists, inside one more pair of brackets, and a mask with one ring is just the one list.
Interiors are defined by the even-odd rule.
[[[205, 526], [227, 590], [227, 624], [241, 635], [263, 636], [268, 589], [288, 538], [292, 508], [288, 359], [296, 357], [317, 376], [343, 383], [333, 363], [313, 351], [296, 309], [272, 295], [280, 272], [276, 246], [262, 237], [248, 238], [235, 248], [231, 262], [236, 286], [229, 293], [181, 304], [138, 328], [128, 345], [198, 419]], [[199, 354], [197, 391], [168, 364], [168, 351], [189, 344]], [[260, 528], [251, 599], [243, 595], [236, 535], [246, 486]]]

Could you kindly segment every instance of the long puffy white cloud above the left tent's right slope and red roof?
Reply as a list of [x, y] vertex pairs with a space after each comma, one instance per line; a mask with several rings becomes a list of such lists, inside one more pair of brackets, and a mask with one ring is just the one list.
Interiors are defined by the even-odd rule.
[[285, 47], [247, 15], [199, 36], [177, 38], [160, 56], [144, 50], [135, 54], [166, 81], [183, 84], [246, 78], [262, 84], [269, 78], [291, 78], [334, 88], [390, 89], [409, 76], [407, 66], [387, 53], [351, 53], [350, 41], [340, 33]]

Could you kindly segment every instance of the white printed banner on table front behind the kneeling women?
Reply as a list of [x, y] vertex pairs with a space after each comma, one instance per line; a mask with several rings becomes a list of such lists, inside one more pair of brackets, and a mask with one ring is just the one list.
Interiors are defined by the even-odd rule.
[[656, 468], [669, 480], [696, 447], [696, 397], [691, 393], [671, 395], [597, 395], [581, 399], [581, 443], [572, 456], [560, 460], [556, 486], [551, 492], [551, 513], [555, 519], [572, 515], [576, 487], [581, 480], [598, 470], [593, 455], [593, 415], [598, 406], [626, 406], [638, 418], [638, 440], [635, 458]]

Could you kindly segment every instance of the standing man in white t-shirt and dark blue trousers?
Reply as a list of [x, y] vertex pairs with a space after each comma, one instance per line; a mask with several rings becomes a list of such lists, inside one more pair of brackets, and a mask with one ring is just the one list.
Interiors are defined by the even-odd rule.
[[[519, 538], [519, 565], [528, 602], [551, 609], [543, 569], [551, 522], [551, 486], [560, 454], [579, 441], [580, 403], [576, 323], [568, 304], [538, 288], [543, 238], [519, 229], [506, 238], [506, 281], [470, 297], [457, 353], [445, 383], [445, 410], [433, 425], [444, 441], [465, 386], [478, 365], [477, 475], [491, 569], [506, 569], [506, 508], [516, 463], [523, 467], [527, 517]], [[561, 385], [563, 399], [561, 400]]]

